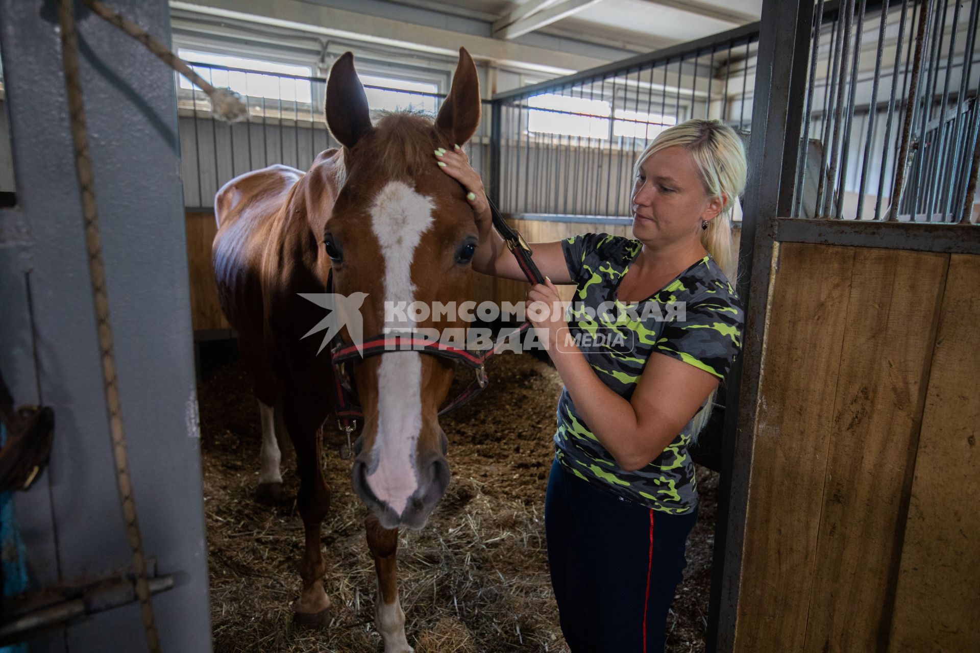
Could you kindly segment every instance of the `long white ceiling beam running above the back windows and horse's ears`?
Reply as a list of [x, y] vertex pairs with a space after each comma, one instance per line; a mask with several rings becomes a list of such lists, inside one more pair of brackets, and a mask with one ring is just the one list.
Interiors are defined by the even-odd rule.
[[208, 16], [288, 27], [351, 41], [362, 41], [457, 57], [461, 45], [473, 59], [496, 66], [568, 74], [595, 66], [594, 57], [585, 57], [549, 48], [523, 45], [450, 29], [405, 23], [333, 9], [300, 0], [171, 0], [173, 9]]

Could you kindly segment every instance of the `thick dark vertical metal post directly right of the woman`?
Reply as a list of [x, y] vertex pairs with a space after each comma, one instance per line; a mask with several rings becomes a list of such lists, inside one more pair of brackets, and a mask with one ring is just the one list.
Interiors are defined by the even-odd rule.
[[[813, 0], [763, 0], [757, 50], [756, 90], [749, 145], [750, 179], [746, 188], [739, 252], [738, 295], [747, 306], [745, 343], [729, 373], [725, 409], [714, 562], [706, 650], [728, 653], [735, 645], [735, 618], [742, 572], [746, 511], [752, 463], [753, 424], [759, 397], [762, 339], [769, 269], [771, 228], [780, 210], [793, 204], [793, 165], [800, 147], [807, 87], [809, 32]], [[744, 373], [743, 373], [744, 370]], [[722, 607], [723, 606], [723, 607]]]

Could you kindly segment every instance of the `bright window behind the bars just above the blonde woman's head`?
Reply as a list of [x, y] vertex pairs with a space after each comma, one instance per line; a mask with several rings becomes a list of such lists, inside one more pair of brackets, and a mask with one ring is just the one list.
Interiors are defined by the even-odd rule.
[[[527, 99], [531, 108], [527, 130], [542, 134], [562, 134], [607, 140], [610, 137], [612, 107], [606, 100], [575, 98], [543, 93]], [[623, 109], [615, 110], [613, 136], [651, 139], [677, 118]]]

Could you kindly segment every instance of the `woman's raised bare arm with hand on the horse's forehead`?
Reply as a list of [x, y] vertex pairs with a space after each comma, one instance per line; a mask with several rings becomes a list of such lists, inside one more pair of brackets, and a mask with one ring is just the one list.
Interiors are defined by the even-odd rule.
[[[473, 254], [473, 269], [483, 274], [492, 274], [505, 279], [524, 281], [526, 277], [517, 264], [517, 259], [508, 250], [504, 239], [493, 228], [490, 205], [483, 190], [483, 181], [469, 165], [462, 149], [449, 150], [437, 154], [436, 160], [443, 172], [453, 177], [466, 189], [466, 200], [476, 216], [476, 230], [479, 241]], [[561, 242], [533, 243], [534, 262], [541, 273], [554, 279], [556, 283], [571, 283], [571, 275], [564, 262]]]

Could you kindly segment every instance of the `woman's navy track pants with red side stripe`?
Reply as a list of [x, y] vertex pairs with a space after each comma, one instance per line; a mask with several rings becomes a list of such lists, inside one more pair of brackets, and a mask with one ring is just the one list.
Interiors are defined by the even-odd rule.
[[670, 515], [593, 488], [556, 460], [545, 532], [572, 653], [662, 653], [667, 611], [697, 510]]

